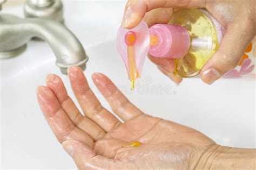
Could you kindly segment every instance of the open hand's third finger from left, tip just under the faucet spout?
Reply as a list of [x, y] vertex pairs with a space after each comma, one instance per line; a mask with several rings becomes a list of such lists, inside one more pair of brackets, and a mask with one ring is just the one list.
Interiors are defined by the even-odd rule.
[[89, 87], [82, 69], [70, 67], [68, 69], [72, 90], [85, 116], [97, 123], [106, 132], [117, 127], [121, 122], [111, 112], [106, 110], [98, 101]]

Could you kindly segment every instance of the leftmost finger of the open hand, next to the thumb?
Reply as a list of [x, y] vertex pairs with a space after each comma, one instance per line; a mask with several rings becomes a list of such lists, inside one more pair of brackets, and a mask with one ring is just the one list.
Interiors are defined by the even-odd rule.
[[67, 139], [76, 139], [93, 147], [92, 138], [72, 124], [50, 88], [38, 87], [37, 100], [46, 121], [60, 143]]

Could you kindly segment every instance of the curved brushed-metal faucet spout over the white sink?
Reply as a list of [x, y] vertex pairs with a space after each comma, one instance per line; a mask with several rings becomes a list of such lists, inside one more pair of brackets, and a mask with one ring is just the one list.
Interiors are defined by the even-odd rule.
[[88, 57], [82, 44], [62, 23], [44, 18], [22, 19], [0, 13], [0, 59], [21, 54], [33, 37], [48, 42], [57, 58], [56, 65], [63, 74], [67, 74], [69, 66], [86, 68]]

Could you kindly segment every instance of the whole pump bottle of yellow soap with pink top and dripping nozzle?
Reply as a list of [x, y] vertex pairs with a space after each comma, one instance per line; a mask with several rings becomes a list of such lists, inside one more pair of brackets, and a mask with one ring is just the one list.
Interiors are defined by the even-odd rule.
[[[127, 45], [127, 35], [131, 33], [136, 37], [132, 53], [131, 46]], [[173, 59], [176, 63], [174, 73], [178, 76], [193, 77], [217, 51], [224, 34], [224, 26], [206, 10], [181, 9], [173, 14], [169, 24], [156, 24], [150, 29], [144, 22], [131, 30], [120, 27], [117, 47], [134, 86], [147, 52], [158, 58]]]

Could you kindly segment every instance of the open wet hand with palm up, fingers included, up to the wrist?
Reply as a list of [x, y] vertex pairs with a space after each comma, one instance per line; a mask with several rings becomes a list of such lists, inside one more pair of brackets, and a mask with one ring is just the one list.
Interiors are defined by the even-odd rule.
[[[80, 113], [57, 75], [46, 78], [37, 97], [43, 114], [79, 169], [185, 169], [196, 167], [214, 141], [194, 129], [144, 114], [103, 74], [93, 74], [97, 88], [111, 105], [97, 100], [79, 67], [68, 70]], [[127, 147], [140, 141], [139, 147]]]

